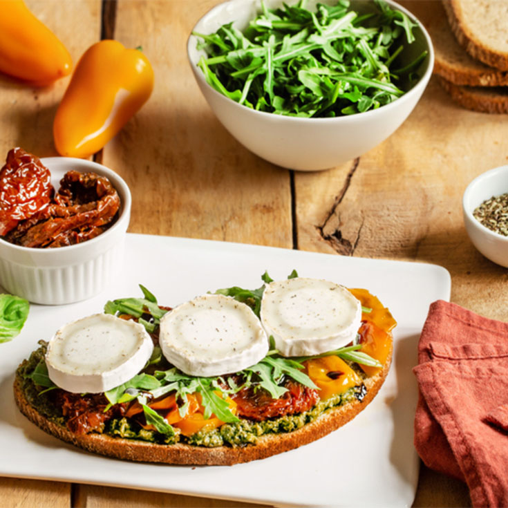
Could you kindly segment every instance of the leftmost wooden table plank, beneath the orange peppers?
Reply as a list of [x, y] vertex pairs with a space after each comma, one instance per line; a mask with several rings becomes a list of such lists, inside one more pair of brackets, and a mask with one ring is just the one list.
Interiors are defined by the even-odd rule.
[[[100, 0], [26, 0], [26, 3], [62, 40], [74, 63], [100, 35]], [[7, 151], [16, 146], [40, 157], [57, 155], [53, 147], [53, 117], [68, 79], [33, 88], [0, 75], [2, 161]], [[70, 484], [0, 478], [0, 498], [3, 506], [63, 508], [70, 505]]]

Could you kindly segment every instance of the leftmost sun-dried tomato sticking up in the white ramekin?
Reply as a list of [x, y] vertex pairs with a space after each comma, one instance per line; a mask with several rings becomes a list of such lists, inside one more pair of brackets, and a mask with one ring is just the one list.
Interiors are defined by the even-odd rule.
[[50, 178], [37, 157], [21, 148], [8, 152], [0, 169], [0, 236], [48, 207], [54, 193]]

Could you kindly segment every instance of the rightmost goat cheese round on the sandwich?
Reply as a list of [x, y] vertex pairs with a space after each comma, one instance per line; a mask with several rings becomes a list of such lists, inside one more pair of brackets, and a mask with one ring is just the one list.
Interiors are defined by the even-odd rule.
[[346, 346], [361, 324], [361, 303], [344, 286], [299, 277], [265, 285], [261, 322], [285, 357]]

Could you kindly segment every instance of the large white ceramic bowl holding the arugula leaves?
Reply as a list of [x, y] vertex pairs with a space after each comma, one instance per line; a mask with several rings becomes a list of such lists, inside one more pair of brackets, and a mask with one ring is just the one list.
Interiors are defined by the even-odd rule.
[[[321, 3], [337, 3], [337, 0], [319, 0]], [[260, 0], [230, 0], [211, 9], [202, 17], [193, 31], [210, 34], [225, 23], [234, 21], [243, 30], [256, 17]], [[279, 7], [282, 0], [265, 0], [269, 7]], [[297, 0], [286, 0], [290, 5]], [[311, 8], [315, 0], [308, 2]], [[418, 27], [416, 40], [400, 56], [402, 64], [411, 62], [423, 50], [429, 56], [419, 69], [420, 80], [410, 91], [391, 104], [379, 109], [335, 118], [301, 118], [274, 115], [254, 111], [230, 100], [214, 90], [205, 80], [197, 64], [203, 50], [198, 51], [198, 38], [194, 35], [187, 42], [187, 55], [196, 81], [218, 120], [236, 140], [257, 156], [289, 169], [317, 171], [337, 166], [372, 149], [386, 140], [406, 120], [420, 99], [432, 74], [434, 52], [429, 34], [422, 24], [406, 9], [387, 0], [397, 10], [405, 12]], [[355, 2], [352, 2], [355, 6]]]

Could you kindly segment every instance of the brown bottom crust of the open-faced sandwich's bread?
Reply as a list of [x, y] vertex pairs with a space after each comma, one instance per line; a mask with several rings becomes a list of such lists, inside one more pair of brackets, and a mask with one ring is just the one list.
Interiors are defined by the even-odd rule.
[[391, 365], [393, 345], [384, 368], [377, 375], [366, 379], [367, 393], [362, 402], [352, 402], [325, 411], [316, 420], [301, 429], [289, 433], [267, 434], [258, 438], [256, 444], [247, 446], [217, 446], [206, 448], [189, 444], [156, 444], [141, 440], [113, 438], [98, 433], [78, 435], [66, 427], [51, 422], [33, 408], [22, 389], [22, 380], [16, 375], [14, 396], [17, 406], [28, 420], [56, 438], [78, 446], [91, 453], [135, 462], [158, 462], [164, 464], [195, 464], [229, 466], [250, 462], [289, 451], [308, 444], [343, 426], [373, 400], [381, 388]]

